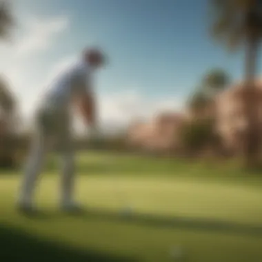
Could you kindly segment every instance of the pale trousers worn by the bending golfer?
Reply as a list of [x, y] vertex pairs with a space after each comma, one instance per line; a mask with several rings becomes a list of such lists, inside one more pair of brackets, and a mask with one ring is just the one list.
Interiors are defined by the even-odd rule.
[[36, 117], [32, 148], [23, 174], [19, 202], [31, 205], [37, 179], [48, 151], [56, 148], [61, 154], [61, 204], [72, 201], [74, 187], [74, 150], [68, 112], [41, 109]]

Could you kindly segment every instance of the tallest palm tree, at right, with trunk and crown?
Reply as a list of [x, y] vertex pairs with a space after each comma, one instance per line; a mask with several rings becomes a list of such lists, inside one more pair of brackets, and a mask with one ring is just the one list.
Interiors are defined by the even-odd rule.
[[245, 160], [248, 167], [259, 161], [260, 141], [254, 80], [256, 60], [262, 37], [261, 0], [210, 0], [212, 3], [212, 36], [225, 43], [230, 50], [245, 48], [245, 106], [248, 132]]

